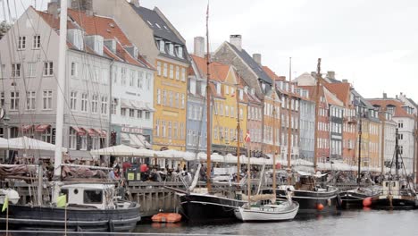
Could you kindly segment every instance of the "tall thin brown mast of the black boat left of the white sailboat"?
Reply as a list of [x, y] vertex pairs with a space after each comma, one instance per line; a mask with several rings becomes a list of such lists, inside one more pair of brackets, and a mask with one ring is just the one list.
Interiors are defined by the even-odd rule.
[[207, 2], [206, 12], [206, 188], [210, 192], [211, 185], [211, 89], [209, 87], [209, 80], [211, 73], [209, 72], [210, 51], [209, 51], [209, 1]]

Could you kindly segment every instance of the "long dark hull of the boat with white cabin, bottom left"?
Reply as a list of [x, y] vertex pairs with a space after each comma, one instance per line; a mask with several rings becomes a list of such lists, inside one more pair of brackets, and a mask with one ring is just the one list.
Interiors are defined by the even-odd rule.
[[[11, 230], [63, 232], [64, 218], [64, 208], [9, 204]], [[66, 224], [68, 232], [131, 232], [140, 219], [137, 203], [132, 203], [129, 208], [108, 210], [70, 206]], [[0, 214], [2, 228], [5, 228], [5, 223], [6, 211]]]

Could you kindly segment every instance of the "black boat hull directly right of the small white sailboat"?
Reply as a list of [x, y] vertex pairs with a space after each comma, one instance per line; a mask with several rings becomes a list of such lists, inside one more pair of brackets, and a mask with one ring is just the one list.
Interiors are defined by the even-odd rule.
[[[272, 190], [263, 190], [263, 193], [272, 193]], [[286, 190], [276, 190], [276, 196], [278, 199], [287, 199]], [[339, 206], [338, 190], [294, 190], [292, 200], [299, 204], [297, 215], [335, 213]]]

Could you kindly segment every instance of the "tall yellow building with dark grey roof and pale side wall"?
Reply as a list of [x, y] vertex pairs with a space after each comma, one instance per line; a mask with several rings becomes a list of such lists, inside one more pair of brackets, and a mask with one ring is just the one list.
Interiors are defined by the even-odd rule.
[[154, 65], [153, 148], [186, 149], [187, 71], [186, 40], [155, 7], [117, 0], [88, 1], [90, 10], [113, 17], [130, 41], [141, 48], [139, 55]]

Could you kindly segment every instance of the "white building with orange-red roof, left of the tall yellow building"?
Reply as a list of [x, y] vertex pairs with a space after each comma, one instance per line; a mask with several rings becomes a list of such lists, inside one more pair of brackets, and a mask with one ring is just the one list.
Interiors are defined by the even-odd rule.
[[[111, 108], [113, 144], [151, 148], [155, 112], [155, 70], [152, 65], [138, 55], [138, 47], [130, 42], [112, 18], [71, 9], [68, 13], [82, 27], [87, 38], [101, 38], [96, 43], [104, 45], [106, 54], [113, 60], [109, 88], [112, 96], [109, 101], [101, 97], [102, 105], [105, 103]], [[73, 70], [78, 69], [77, 65], [73, 67]]]

